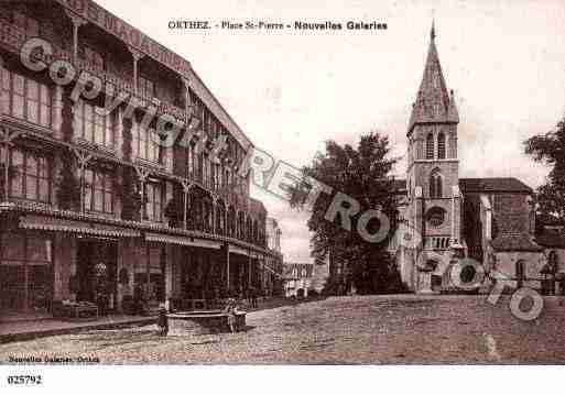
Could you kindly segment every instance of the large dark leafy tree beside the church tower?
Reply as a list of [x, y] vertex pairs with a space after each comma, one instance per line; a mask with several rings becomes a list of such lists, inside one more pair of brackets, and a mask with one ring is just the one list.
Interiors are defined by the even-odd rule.
[[[302, 168], [303, 180], [290, 188], [291, 206], [305, 208], [305, 197], [309, 188], [309, 177], [333, 188], [332, 194], [320, 194], [312, 216], [307, 221], [313, 232], [312, 255], [319, 261], [332, 251], [334, 259], [346, 262], [346, 284], [355, 285], [361, 294], [391, 292], [391, 285], [400, 283], [393, 259], [387, 246], [395, 229], [398, 217], [394, 183], [390, 176], [396, 158], [390, 157], [389, 140], [379, 133], [362, 135], [357, 147], [326, 142], [324, 153], [318, 153], [309, 166]], [[324, 217], [337, 193], [359, 201], [361, 209], [351, 219], [351, 231], [340, 227], [340, 218], [334, 222]], [[368, 209], [380, 208], [390, 221], [390, 231], [378, 243], [366, 241], [358, 232], [357, 220]], [[384, 224], [384, 223], [382, 223]], [[371, 219], [370, 234], [379, 230], [381, 223]], [[330, 284], [337, 279], [330, 278]]]

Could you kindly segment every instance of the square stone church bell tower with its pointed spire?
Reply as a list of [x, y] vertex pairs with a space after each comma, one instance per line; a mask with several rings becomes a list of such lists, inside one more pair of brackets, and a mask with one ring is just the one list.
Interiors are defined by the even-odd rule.
[[432, 24], [424, 75], [408, 127], [409, 223], [422, 235], [413, 251], [415, 292], [435, 292], [447, 284], [445, 268], [461, 250], [461, 201], [457, 124], [459, 116], [448, 91]]

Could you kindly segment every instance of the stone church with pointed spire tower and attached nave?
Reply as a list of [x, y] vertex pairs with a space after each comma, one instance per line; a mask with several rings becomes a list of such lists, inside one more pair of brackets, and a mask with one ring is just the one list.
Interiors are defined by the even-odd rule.
[[482, 266], [485, 287], [501, 273], [509, 289], [553, 294], [565, 272], [563, 227], [536, 234], [533, 190], [517, 178], [459, 178], [459, 113], [435, 41], [432, 26], [408, 125], [406, 178], [395, 182], [403, 237], [417, 241], [391, 245], [402, 282], [414, 293], [457, 292], [450, 267], [469, 257]]

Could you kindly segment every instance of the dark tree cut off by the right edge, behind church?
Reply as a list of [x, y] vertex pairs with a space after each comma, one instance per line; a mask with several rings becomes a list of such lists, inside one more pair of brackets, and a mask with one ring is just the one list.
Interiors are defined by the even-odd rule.
[[537, 188], [540, 223], [565, 220], [565, 119], [555, 130], [524, 142], [525, 153], [551, 167], [546, 183]]

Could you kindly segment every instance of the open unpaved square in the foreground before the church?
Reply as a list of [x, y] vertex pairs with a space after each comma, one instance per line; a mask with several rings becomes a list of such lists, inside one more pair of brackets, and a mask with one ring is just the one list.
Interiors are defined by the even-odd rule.
[[154, 327], [0, 345], [9, 356], [95, 356], [101, 363], [357, 364], [564, 363], [565, 305], [514, 318], [508, 298], [485, 296], [333, 297], [248, 315], [240, 333], [160, 338]]

